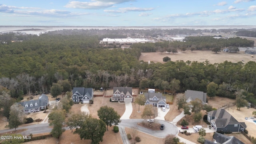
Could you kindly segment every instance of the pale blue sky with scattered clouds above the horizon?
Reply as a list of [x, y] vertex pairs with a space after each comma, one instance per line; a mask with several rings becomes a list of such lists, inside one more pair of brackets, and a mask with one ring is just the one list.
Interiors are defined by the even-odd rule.
[[0, 0], [2, 26], [256, 25], [256, 0]]

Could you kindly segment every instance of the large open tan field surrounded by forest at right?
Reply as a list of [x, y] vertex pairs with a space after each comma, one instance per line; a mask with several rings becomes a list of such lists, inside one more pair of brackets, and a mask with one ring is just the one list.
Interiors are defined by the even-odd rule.
[[198, 62], [204, 62], [206, 60], [208, 60], [211, 64], [214, 63], [222, 63], [225, 60], [228, 60], [230, 62], [242, 62], [246, 63], [249, 61], [256, 61], [256, 58], [252, 58], [251, 54], [246, 54], [244, 51], [240, 51], [240, 52], [218, 52], [217, 54], [215, 52], [212, 51], [200, 51], [200, 50], [196, 50], [196, 51], [185, 51], [185, 52], [181, 52], [179, 51], [178, 53], [162, 53], [161, 52], [142, 52], [140, 59], [139, 60], [143, 60], [145, 62], [148, 61], [153, 61], [153, 62], [160, 62], [160, 63], [164, 63], [163, 62], [163, 58], [164, 57], [170, 57], [171, 61], [175, 62], [176, 60], [183, 60], [184, 62], [186, 62], [187, 60], [190, 61], [198, 61]]

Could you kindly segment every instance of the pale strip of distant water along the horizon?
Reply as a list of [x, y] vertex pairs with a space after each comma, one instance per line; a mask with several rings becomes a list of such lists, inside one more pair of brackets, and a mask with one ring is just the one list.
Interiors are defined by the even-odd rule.
[[26, 34], [44, 34], [46, 32], [55, 30], [89, 30], [89, 29], [138, 29], [138, 30], [150, 30], [150, 29], [230, 29], [230, 28], [256, 28], [256, 26], [0, 26], [0, 32], [25, 32]]

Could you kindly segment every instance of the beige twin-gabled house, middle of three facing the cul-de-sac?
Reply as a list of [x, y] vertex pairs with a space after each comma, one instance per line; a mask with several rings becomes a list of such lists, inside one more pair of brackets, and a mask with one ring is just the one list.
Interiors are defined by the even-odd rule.
[[114, 87], [112, 102], [133, 102], [132, 87]]

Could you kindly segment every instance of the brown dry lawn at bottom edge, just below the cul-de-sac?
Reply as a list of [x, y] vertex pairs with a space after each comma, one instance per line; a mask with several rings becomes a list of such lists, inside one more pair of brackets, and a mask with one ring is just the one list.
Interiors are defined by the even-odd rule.
[[[131, 136], [132, 136], [131, 128], [125, 128], [125, 132], [126, 132], [126, 134], [131, 134]], [[164, 144], [164, 138], [157, 138], [157, 137], [154, 137], [154, 136], [151, 136], [149, 134], [145, 134], [145, 133], [139, 132], [139, 131], [136, 136], [140, 137], [141, 141], [138, 142], [139, 144]], [[132, 136], [132, 140], [130, 140], [131, 144], [132, 144], [132, 142], [134, 142], [133, 136]]]

